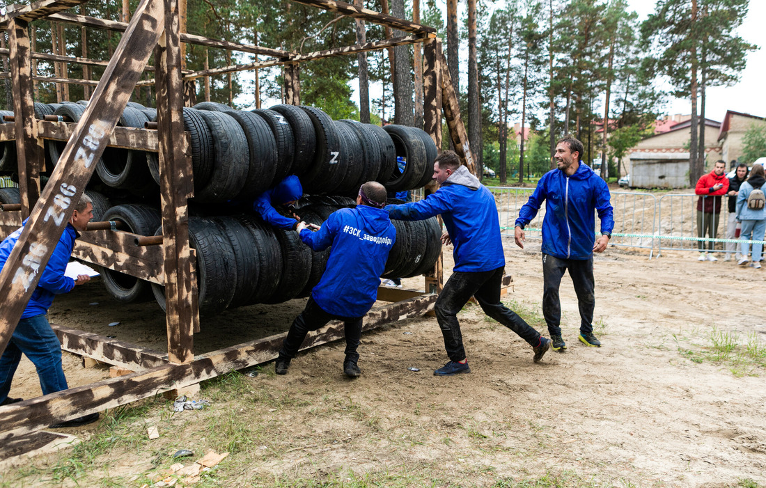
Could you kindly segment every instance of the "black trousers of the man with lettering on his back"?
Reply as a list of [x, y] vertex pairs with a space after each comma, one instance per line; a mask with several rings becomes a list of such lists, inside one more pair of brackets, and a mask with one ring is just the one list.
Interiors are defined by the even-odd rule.
[[313, 298], [309, 297], [306, 308], [296, 317], [293, 325], [290, 326], [290, 331], [287, 332], [287, 337], [282, 343], [282, 349], [280, 349], [280, 359], [288, 362], [290, 359], [293, 359], [298, 354], [298, 350], [309, 331], [321, 329], [330, 320], [342, 320], [343, 332], [345, 334], [344, 362], [356, 363], [359, 360], [359, 354], [356, 352], [356, 349], [358, 349], [359, 342], [362, 340], [363, 318], [332, 315], [332, 313], [322, 310], [322, 307]]

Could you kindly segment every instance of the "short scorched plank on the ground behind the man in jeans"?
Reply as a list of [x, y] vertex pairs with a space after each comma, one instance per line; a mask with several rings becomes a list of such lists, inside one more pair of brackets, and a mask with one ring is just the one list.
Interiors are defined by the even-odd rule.
[[51, 329], [56, 332], [64, 351], [85, 355], [110, 365], [139, 371], [168, 364], [168, 359], [162, 357], [162, 352], [148, 347], [135, 346], [128, 342], [53, 323]]

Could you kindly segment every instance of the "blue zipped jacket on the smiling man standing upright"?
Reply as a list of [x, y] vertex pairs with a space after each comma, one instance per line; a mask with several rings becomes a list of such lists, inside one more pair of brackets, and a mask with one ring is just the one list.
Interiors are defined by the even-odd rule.
[[611, 195], [606, 182], [582, 161], [574, 175], [560, 169], [545, 173], [519, 211], [516, 225], [529, 224], [545, 200], [542, 221], [542, 252], [561, 259], [590, 259], [595, 242], [594, 209], [601, 232], [614, 228]]

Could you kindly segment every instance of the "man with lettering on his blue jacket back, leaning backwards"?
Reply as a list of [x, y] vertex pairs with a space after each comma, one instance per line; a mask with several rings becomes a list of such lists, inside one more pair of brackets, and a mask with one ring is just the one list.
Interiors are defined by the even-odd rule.
[[383, 185], [367, 182], [359, 188], [356, 208], [332, 212], [316, 232], [303, 222], [298, 224], [301, 241], [314, 251], [330, 247], [330, 255], [306, 308], [287, 332], [274, 363], [277, 375], [287, 373], [306, 334], [333, 319], [345, 325], [343, 372], [352, 378], [362, 374], [356, 352], [362, 338], [362, 319], [378, 297], [380, 275], [396, 240], [396, 229], [383, 210], [385, 200]]

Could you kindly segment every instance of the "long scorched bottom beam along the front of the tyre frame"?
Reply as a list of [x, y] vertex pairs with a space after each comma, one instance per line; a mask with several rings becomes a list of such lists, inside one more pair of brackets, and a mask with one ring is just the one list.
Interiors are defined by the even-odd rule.
[[[421, 295], [399, 303], [370, 310], [363, 331], [401, 319], [422, 316], [433, 310], [437, 296]], [[272, 361], [277, 358], [286, 332], [245, 342], [203, 355], [192, 362], [157, 366], [132, 375], [110, 378], [91, 385], [57, 391], [0, 408], [0, 441], [7, 442], [57, 421], [103, 411], [156, 395], [172, 388], [183, 388], [224, 373]], [[302, 350], [321, 346], [343, 337], [343, 323], [333, 321], [309, 333]], [[0, 442], [0, 444], [2, 444]]]

